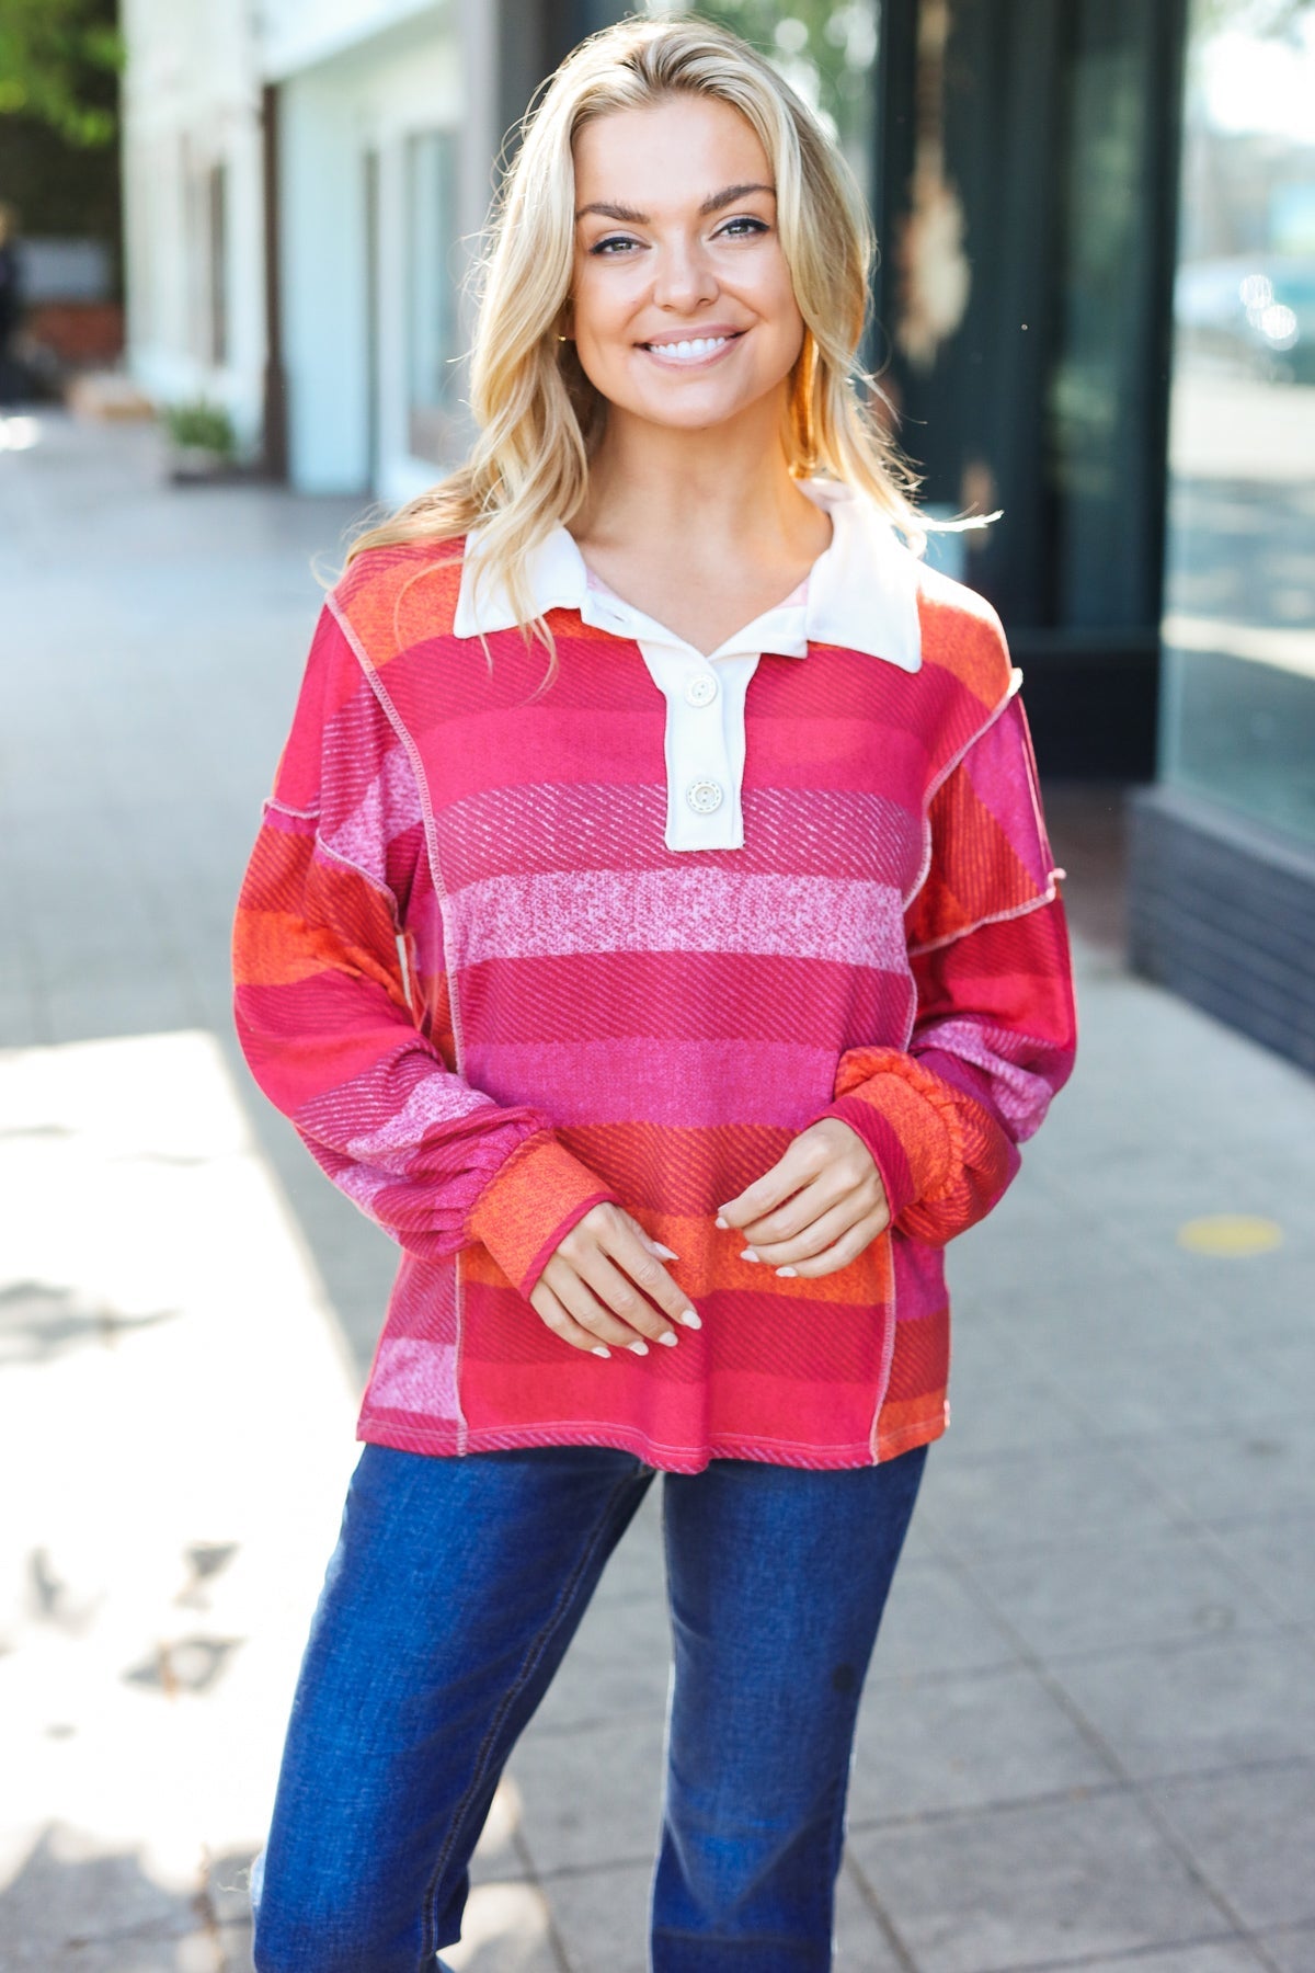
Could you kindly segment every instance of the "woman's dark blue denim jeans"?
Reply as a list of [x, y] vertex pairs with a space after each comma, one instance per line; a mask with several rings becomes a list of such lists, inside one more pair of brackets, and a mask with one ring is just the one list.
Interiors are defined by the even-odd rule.
[[[824, 1973], [854, 1720], [927, 1446], [664, 1474], [674, 1640], [653, 1973]], [[252, 1870], [260, 1973], [418, 1973], [655, 1468], [367, 1446]], [[442, 1967], [442, 1961], [438, 1961]]]

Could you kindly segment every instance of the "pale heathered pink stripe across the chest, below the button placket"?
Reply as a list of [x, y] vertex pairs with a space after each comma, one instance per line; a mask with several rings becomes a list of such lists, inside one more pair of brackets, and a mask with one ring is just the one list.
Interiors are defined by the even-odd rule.
[[789, 953], [907, 973], [891, 884], [727, 870], [501, 876], [450, 898], [455, 963], [548, 953]]

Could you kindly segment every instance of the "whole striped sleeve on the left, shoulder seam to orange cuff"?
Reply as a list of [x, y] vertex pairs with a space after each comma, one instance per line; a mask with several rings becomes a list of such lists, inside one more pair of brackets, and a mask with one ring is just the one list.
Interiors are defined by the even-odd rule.
[[410, 756], [325, 606], [239, 900], [239, 1040], [327, 1176], [398, 1245], [438, 1259], [479, 1241], [528, 1294], [615, 1194], [548, 1115], [473, 1089], [428, 1038], [408, 929], [424, 858]]

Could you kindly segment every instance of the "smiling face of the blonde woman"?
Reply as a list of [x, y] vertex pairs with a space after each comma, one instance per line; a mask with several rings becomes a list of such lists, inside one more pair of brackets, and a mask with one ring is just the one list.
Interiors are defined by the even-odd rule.
[[611, 110], [576, 136], [568, 333], [621, 416], [702, 430], [773, 404], [804, 339], [767, 154], [710, 97]]

